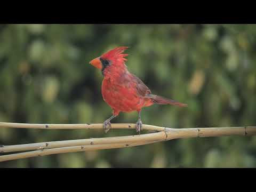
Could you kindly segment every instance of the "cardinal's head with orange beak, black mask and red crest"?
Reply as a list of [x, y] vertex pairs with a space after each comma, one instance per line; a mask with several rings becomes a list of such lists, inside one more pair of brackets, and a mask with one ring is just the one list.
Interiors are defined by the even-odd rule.
[[108, 51], [107, 53], [102, 54], [100, 57], [95, 58], [90, 61], [90, 64], [94, 67], [101, 69], [102, 71], [110, 66], [124, 66], [124, 61], [126, 59], [124, 57], [127, 57], [128, 54], [122, 54], [128, 47], [122, 46], [122, 47], [116, 47], [113, 50]]

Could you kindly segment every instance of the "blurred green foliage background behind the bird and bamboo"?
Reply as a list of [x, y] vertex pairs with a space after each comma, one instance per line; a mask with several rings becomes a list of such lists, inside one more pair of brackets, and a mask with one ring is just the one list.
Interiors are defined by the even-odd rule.
[[[0, 121], [102, 123], [101, 71], [89, 61], [129, 46], [127, 66], [155, 94], [188, 108], [151, 106], [145, 124], [255, 126], [255, 25], [0, 25]], [[137, 113], [113, 123], [137, 122]], [[0, 129], [0, 144], [110, 137], [135, 130]], [[179, 139], [153, 145], [20, 159], [0, 167], [255, 167], [256, 137]]]

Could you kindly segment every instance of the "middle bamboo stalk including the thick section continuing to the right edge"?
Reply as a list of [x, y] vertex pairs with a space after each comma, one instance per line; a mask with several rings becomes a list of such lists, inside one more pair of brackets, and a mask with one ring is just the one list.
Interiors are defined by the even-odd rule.
[[[181, 138], [195, 138], [195, 137], [218, 137], [228, 135], [255, 135], [256, 127], [209, 127], [209, 128], [191, 128], [191, 129], [171, 129], [166, 128], [165, 134], [163, 132], [149, 133], [142, 135], [131, 135], [123, 137], [109, 137], [109, 138], [91, 138], [78, 139], [67, 141], [50, 141], [29, 143], [23, 145], [11, 145], [0, 147], [0, 153], [10, 153], [14, 151], [26, 151], [36, 149], [51, 149], [59, 147], [71, 147], [79, 145], [101, 145], [110, 143], [122, 142], [140, 142], [140, 141], [163, 141]], [[167, 138], [166, 138], [167, 137]]]

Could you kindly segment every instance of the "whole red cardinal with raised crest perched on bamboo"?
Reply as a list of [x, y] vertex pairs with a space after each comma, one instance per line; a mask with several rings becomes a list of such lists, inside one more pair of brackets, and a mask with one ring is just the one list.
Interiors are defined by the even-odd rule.
[[142, 129], [140, 112], [143, 107], [149, 107], [153, 104], [187, 107], [186, 104], [151, 94], [148, 87], [137, 76], [128, 71], [125, 65], [125, 57], [128, 54], [123, 54], [127, 48], [125, 46], [116, 47], [101, 57], [90, 61], [91, 65], [102, 71], [104, 76], [101, 87], [102, 97], [113, 109], [113, 116], [103, 123], [106, 133], [111, 128], [111, 119], [118, 116], [121, 111], [138, 111], [139, 121], [136, 123], [136, 128], [137, 132], [140, 132]]

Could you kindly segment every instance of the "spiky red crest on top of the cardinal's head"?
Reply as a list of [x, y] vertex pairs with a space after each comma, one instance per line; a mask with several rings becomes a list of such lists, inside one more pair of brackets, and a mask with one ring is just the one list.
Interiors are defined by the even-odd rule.
[[104, 53], [101, 58], [110, 61], [127, 61], [125, 57], [127, 57], [128, 54], [123, 54], [123, 52], [128, 48], [129, 47], [127, 46], [116, 47], [115, 49]]

